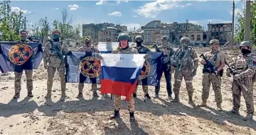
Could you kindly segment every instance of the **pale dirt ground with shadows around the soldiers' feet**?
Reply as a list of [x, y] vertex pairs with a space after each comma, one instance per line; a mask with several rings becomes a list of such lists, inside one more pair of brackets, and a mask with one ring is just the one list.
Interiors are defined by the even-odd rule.
[[[202, 66], [193, 79], [196, 104], [201, 103]], [[142, 87], [139, 86], [135, 100], [137, 122], [129, 121], [127, 102], [123, 100], [121, 118], [109, 119], [113, 111], [113, 100], [93, 99], [90, 84], [85, 84], [84, 100], [78, 100], [78, 83], [67, 83], [68, 98], [60, 100], [60, 79], [55, 74], [52, 100], [46, 100], [47, 73], [43, 65], [33, 71], [33, 95], [26, 98], [26, 76], [23, 74], [21, 98], [14, 96], [14, 73], [0, 74], [0, 134], [46, 134], [46, 135], [83, 135], [83, 134], [256, 134], [256, 122], [244, 121], [245, 100], [241, 102], [241, 116], [226, 115], [233, 107], [231, 78], [223, 76], [223, 110], [216, 109], [214, 92], [210, 90], [208, 107], [193, 108], [188, 105], [185, 82], [181, 86], [181, 103], [173, 104], [167, 100], [164, 76], [161, 81], [160, 98], [143, 102]], [[174, 79], [172, 79], [172, 85]], [[149, 87], [151, 97], [154, 87]], [[99, 91], [100, 93], [100, 91]], [[173, 95], [174, 97], [174, 95]], [[124, 98], [123, 98], [124, 99]], [[254, 96], [254, 101], [256, 96]], [[255, 107], [256, 108], [256, 107]]]

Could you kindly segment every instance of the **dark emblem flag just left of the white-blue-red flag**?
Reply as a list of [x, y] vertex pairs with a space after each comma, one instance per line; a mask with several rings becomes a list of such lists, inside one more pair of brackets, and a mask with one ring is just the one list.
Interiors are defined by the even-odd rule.
[[100, 59], [95, 52], [70, 51], [65, 57], [67, 83], [100, 83]]

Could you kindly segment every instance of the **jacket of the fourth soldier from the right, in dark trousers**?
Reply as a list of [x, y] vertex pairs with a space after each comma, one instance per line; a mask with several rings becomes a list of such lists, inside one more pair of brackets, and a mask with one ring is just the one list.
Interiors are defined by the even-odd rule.
[[164, 57], [163, 57], [163, 64], [171, 62], [171, 59], [173, 59], [174, 56], [174, 49], [171, 47], [171, 45], [167, 45], [167, 47], [157, 47], [160, 52], [164, 52]]

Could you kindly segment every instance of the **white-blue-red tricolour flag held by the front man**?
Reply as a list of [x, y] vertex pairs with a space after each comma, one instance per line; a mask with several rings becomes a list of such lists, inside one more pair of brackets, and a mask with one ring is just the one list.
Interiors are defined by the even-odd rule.
[[101, 54], [101, 93], [126, 96], [136, 88], [146, 54]]

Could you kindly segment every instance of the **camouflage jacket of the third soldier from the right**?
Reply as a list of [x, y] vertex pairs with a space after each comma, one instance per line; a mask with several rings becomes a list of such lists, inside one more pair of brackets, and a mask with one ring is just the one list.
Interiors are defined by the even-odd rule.
[[174, 55], [174, 66], [179, 66], [180, 69], [197, 69], [198, 56], [192, 47], [179, 48]]

